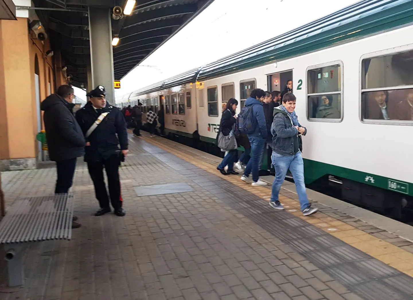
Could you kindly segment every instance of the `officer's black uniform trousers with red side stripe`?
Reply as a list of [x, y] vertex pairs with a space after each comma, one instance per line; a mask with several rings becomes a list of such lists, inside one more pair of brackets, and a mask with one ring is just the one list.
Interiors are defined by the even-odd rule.
[[96, 198], [100, 208], [109, 207], [109, 197], [103, 179], [103, 167], [106, 170], [109, 196], [114, 209], [122, 207], [121, 182], [119, 180], [119, 157], [115, 154], [101, 162], [88, 162], [88, 170], [95, 186]]

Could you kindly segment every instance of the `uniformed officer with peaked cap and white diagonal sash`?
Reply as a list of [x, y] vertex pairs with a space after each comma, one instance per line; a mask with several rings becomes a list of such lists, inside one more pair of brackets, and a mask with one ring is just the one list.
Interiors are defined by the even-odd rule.
[[[95, 213], [95, 216], [102, 216], [111, 211], [103, 180], [104, 167], [114, 213], [122, 217], [125, 215], [125, 210], [122, 208], [119, 165], [121, 158], [129, 151], [125, 119], [120, 110], [106, 101], [103, 86], [97, 86], [86, 96], [90, 101], [76, 112], [76, 120], [85, 135], [85, 162], [88, 163], [89, 174], [100, 205], [100, 210]], [[121, 147], [120, 150], [118, 145]]]

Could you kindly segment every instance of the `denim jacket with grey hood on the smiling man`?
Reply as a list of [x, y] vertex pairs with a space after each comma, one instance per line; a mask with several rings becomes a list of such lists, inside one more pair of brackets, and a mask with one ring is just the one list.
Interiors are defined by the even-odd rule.
[[[302, 127], [299, 124], [299, 127]], [[301, 135], [298, 134], [297, 129], [293, 126], [290, 116], [280, 110], [274, 109], [274, 121], [271, 126], [271, 133], [273, 134], [273, 151], [281, 155], [292, 156], [303, 150]], [[307, 134], [307, 129], [304, 136]]]

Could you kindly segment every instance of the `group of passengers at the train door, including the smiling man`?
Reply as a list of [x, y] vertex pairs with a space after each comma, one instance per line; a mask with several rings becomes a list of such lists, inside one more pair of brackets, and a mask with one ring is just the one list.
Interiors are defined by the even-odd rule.
[[[296, 97], [292, 93], [292, 81], [280, 93], [279, 91], [264, 91], [254, 89], [245, 101], [242, 109], [243, 125], [239, 124], [235, 111], [238, 101], [234, 98], [223, 105], [223, 112], [219, 126], [216, 143], [225, 151], [225, 156], [217, 169], [223, 175], [237, 175], [234, 171], [234, 162], [237, 157], [237, 147], [242, 145], [244, 153], [235, 167], [243, 172], [241, 180], [251, 183], [252, 186], [266, 186], [267, 183], [259, 178], [259, 170], [263, 164], [263, 154], [267, 145], [272, 149], [271, 169], [275, 171], [270, 205], [276, 210], [284, 210], [280, 203], [279, 193], [287, 171], [290, 170], [297, 188], [297, 194], [304, 215], [317, 211], [312, 208], [306, 194], [304, 183], [304, 162], [301, 157], [302, 139], [307, 129], [298, 121], [295, 113]], [[250, 130], [242, 133], [245, 125], [246, 112], [251, 120]], [[224, 142], [223, 140], [226, 140]], [[233, 147], [230, 143], [235, 143]], [[223, 143], [230, 145], [223, 147]], [[225, 149], [223, 149], [225, 148]], [[231, 148], [229, 150], [229, 148]], [[251, 159], [249, 156], [252, 155]], [[225, 167], [228, 169], [225, 171]], [[252, 180], [250, 175], [252, 174]]]

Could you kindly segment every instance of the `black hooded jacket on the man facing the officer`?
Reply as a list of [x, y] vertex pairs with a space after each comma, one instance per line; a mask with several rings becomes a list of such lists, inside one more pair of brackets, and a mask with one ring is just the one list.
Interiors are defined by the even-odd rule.
[[74, 104], [57, 94], [47, 97], [40, 105], [45, 113], [47, 146], [50, 160], [59, 162], [85, 154], [85, 138], [73, 115]]

